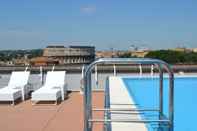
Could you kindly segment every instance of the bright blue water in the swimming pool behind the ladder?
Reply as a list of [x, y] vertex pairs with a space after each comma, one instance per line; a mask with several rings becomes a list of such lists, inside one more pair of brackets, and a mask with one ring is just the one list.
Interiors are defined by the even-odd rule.
[[[129, 94], [141, 108], [159, 105], [158, 78], [123, 78]], [[164, 79], [164, 113], [168, 115], [168, 84]], [[197, 77], [175, 78], [174, 82], [174, 131], [197, 131]], [[154, 118], [154, 114], [144, 117]], [[153, 128], [153, 125], [149, 125]], [[150, 129], [152, 131], [152, 129]]]

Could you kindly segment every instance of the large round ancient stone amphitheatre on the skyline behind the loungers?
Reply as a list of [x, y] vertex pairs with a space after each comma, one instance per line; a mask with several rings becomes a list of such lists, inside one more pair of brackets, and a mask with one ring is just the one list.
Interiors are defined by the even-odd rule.
[[48, 46], [43, 56], [59, 61], [59, 64], [89, 64], [95, 59], [93, 46]]

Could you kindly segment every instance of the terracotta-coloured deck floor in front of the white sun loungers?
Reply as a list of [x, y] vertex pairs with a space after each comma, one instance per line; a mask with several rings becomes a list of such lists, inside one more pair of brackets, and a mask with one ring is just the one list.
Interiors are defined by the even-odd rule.
[[[93, 106], [103, 108], [103, 92], [93, 93]], [[94, 117], [103, 118], [102, 112]], [[102, 131], [103, 125], [93, 125], [94, 131]], [[15, 106], [0, 104], [1, 131], [83, 131], [83, 96], [72, 92], [58, 105], [31, 104], [30, 100]]]

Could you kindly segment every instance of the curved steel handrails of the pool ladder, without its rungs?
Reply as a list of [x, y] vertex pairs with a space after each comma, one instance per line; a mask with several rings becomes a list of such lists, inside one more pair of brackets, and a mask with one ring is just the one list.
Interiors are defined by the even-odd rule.
[[[157, 65], [160, 76], [159, 89], [159, 114], [163, 114], [163, 69], [169, 74], [169, 131], [173, 131], [174, 121], [174, 74], [171, 67], [162, 60], [149, 58], [101, 58], [92, 62], [84, 73], [84, 131], [92, 131], [92, 86], [91, 86], [91, 72], [97, 64], [150, 64]], [[162, 116], [159, 116], [161, 120]], [[158, 121], [159, 121], [158, 120]], [[102, 120], [103, 122], [110, 122], [110, 120]]]

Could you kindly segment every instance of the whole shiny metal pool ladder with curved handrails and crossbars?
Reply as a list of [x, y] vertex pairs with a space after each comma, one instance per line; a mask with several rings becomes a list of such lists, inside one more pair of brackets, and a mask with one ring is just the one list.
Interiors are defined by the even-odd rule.
[[[157, 65], [159, 69], [159, 109], [137, 109], [138, 111], [158, 111], [159, 112], [159, 119], [152, 120], [152, 119], [141, 119], [141, 120], [129, 120], [129, 119], [111, 119], [110, 111], [118, 110], [118, 111], [125, 111], [126, 109], [112, 109], [109, 106], [109, 89], [106, 88], [105, 90], [105, 106], [103, 109], [93, 109], [92, 108], [92, 85], [91, 85], [91, 74], [92, 70], [97, 64], [112, 64], [112, 65], [119, 65], [119, 64], [129, 64], [129, 65]], [[163, 71], [164, 69], [169, 74], [169, 101], [168, 101], [168, 117], [163, 117]], [[106, 82], [107, 83], [107, 82]], [[162, 128], [163, 123], [167, 123], [167, 130], [173, 131], [173, 121], [174, 121], [174, 74], [171, 67], [164, 61], [157, 60], [157, 59], [149, 59], [149, 58], [102, 58], [97, 59], [90, 65], [85, 68], [84, 71], [84, 131], [92, 131], [92, 126], [94, 122], [103, 122], [105, 125], [106, 123], [111, 122], [131, 122], [131, 123], [158, 123], [159, 126]], [[108, 87], [108, 84], [106, 84]], [[132, 109], [130, 109], [132, 110]], [[92, 113], [93, 111], [104, 111], [105, 116], [104, 119], [93, 119]], [[126, 111], [129, 111], [128, 109]], [[110, 127], [106, 126], [105, 130], [109, 131]], [[158, 128], [157, 131], [163, 129]], [[165, 129], [166, 131], [166, 129]]]

